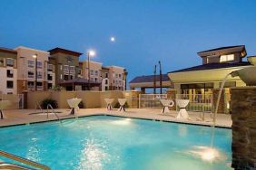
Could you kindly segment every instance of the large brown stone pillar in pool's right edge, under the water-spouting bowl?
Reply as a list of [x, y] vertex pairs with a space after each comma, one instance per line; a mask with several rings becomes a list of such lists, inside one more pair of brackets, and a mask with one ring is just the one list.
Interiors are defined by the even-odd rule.
[[256, 169], [256, 87], [231, 89], [232, 167]]

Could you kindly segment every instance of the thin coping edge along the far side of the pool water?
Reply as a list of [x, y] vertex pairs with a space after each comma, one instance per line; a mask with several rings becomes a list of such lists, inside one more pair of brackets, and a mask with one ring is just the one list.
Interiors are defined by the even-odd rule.
[[62, 121], [65, 119], [75, 119], [75, 118], [86, 118], [86, 117], [95, 117], [95, 116], [108, 116], [108, 117], [117, 117], [117, 118], [134, 118], [134, 119], [143, 119], [143, 120], [151, 120], [151, 121], [159, 121], [159, 122], [166, 122], [166, 123], [178, 123], [178, 124], [185, 124], [185, 125], [194, 125], [194, 126], [202, 126], [202, 127], [218, 127], [218, 128], [225, 128], [225, 129], [231, 129], [229, 126], [220, 126], [220, 125], [211, 125], [207, 123], [195, 123], [195, 122], [184, 122], [179, 120], [167, 120], [167, 119], [161, 119], [161, 118], [142, 118], [142, 117], [131, 117], [131, 116], [123, 116], [123, 115], [113, 115], [113, 114], [107, 114], [107, 113], [95, 113], [91, 115], [82, 115], [82, 116], [74, 116], [69, 118], [60, 118], [60, 120], [53, 118], [53, 119], [47, 119], [47, 120], [37, 120], [37, 121], [31, 121], [26, 123], [18, 123], [13, 125], [4, 125], [0, 126], [0, 128], [3, 127], [16, 127], [16, 126], [25, 126], [30, 124], [39, 124], [39, 123], [47, 123], [47, 122], [54, 122], [54, 121]]

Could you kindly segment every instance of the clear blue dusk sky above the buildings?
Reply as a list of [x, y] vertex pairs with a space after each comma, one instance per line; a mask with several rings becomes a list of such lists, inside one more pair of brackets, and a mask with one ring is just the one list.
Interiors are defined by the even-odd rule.
[[94, 49], [132, 80], [157, 61], [163, 73], [199, 65], [196, 52], [211, 48], [244, 44], [256, 55], [255, 9], [255, 0], [0, 0], [0, 46]]

